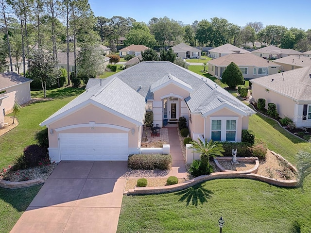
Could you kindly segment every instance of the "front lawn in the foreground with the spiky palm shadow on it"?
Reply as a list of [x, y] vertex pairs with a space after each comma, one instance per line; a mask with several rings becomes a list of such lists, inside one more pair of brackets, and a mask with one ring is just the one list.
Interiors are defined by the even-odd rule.
[[213, 180], [171, 194], [124, 196], [118, 233], [311, 232], [309, 189], [280, 188], [244, 179]]

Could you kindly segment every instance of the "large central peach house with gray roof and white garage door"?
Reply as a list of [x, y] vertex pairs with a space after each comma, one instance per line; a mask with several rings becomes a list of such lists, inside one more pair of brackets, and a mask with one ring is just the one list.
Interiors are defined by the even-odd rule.
[[255, 114], [210, 79], [171, 62], [141, 62], [90, 79], [86, 92], [40, 124], [52, 161], [127, 160], [140, 152], [146, 109], [160, 126], [185, 116], [195, 140], [236, 142]]

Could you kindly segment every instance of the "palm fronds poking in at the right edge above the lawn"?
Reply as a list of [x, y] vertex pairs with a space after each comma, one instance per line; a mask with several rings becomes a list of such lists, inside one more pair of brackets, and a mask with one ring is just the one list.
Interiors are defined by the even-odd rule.
[[298, 161], [299, 182], [297, 187], [300, 187], [303, 190], [305, 178], [311, 174], [311, 153], [307, 151], [299, 151]]

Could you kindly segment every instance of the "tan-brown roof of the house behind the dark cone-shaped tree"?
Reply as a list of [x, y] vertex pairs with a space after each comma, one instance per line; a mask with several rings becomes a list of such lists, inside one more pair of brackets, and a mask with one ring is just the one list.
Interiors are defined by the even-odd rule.
[[246, 67], [280, 67], [273, 62], [267, 62], [266, 59], [263, 59], [259, 56], [256, 56], [252, 53], [234, 53], [228, 54], [226, 56], [222, 56], [213, 60], [210, 60], [208, 63], [215, 65], [215, 66], [228, 66], [231, 62], [234, 62], [239, 67], [246, 66]]

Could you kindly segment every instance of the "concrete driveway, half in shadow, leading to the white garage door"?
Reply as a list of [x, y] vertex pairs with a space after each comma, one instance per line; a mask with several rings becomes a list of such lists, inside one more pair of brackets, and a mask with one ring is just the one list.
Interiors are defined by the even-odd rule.
[[126, 162], [60, 162], [11, 233], [115, 233]]

